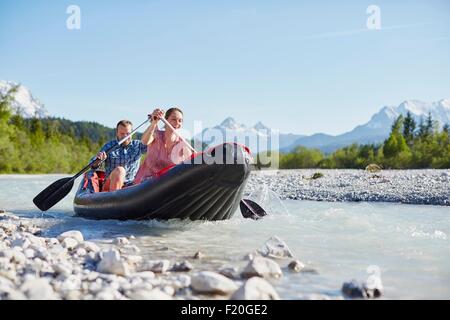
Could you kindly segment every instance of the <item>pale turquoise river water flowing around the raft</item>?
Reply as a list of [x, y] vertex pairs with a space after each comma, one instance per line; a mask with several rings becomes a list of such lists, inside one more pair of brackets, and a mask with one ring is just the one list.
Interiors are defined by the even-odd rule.
[[[365, 280], [378, 270], [387, 299], [450, 299], [450, 208], [392, 203], [280, 201], [273, 194], [252, 195], [267, 210], [260, 221], [236, 212], [222, 222], [91, 221], [73, 217], [72, 193], [46, 213], [32, 198], [65, 176], [0, 176], [0, 209], [29, 217], [46, 236], [77, 229], [85, 238], [108, 242], [136, 237], [147, 258], [190, 260], [194, 270], [245, 266], [243, 256], [272, 236], [286, 242], [295, 257], [317, 273], [291, 273], [290, 260], [278, 260], [283, 277], [271, 281], [283, 299], [310, 294], [340, 297], [342, 283]], [[368, 272], [369, 271], [369, 272]]]

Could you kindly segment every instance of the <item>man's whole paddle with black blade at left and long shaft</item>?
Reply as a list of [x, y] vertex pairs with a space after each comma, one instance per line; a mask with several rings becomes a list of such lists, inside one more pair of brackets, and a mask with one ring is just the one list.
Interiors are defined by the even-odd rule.
[[[122, 143], [124, 143], [127, 139], [129, 139], [140, 127], [142, 127], [144, 124], [146, 124], [150, 120], [147, 119], [143, 123], [141, 123], [136, 129], [131, 131], [129, 135], [127, 135], [125, 138], [119, 141], [119, 143], [108, 150], [105, 151], [106, 154], [111, 153], [115, 149], [117, 149]], [[42, 190], [34, 199], [33, 202], [42, 211], [47, 211], [51, 207], [53, 207], [55, 204], [57, 204], [59, 201], [61, 201], [69, 192], [72, 190], [73, 182], [76, 178], [81, 176], [85, 171], [90, 169], [92, 166], [99, 166], [103, 161], [100, 161], [99, 159], [95, 159], [91, 161], [87, 166], [85, 166], [83, 169], [80, 170], [76, 175], [73, 177], [63, 178], [59, 179], [58, 181], [53, 182], [51, 185], [49, 185], [47, 188]]]

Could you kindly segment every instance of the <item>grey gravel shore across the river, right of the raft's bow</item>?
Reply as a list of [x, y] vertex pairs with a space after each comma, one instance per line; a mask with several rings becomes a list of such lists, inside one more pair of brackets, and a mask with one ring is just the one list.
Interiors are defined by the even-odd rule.
[[[322, 176], [315, 173], [320, 173]], [[253, 171], [246, 194], [266, 186], [281, 199], [450, 205], [449, 170]]]

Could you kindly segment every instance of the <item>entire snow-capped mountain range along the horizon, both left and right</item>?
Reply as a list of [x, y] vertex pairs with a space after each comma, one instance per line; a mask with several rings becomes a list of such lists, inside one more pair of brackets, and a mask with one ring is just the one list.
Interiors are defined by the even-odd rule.
[[[14, 113], [20, 114], [25, 118], [49, 117], [44, 105], [33, 97], [31, 91], [23, 85], [12, 81], [0, 80], [0, 96], [4, 96], [15, 86], [17, 86], [17, 92], [11, 103]], [[405, 116], [408, 111], [417, 123], [421, 119], [424, 120], [429, 113], [431, 113], [434, 120], [438, 121], [441, 127], [450, 123], [450, 99], [436, 102], [406, 100], [398, 106], [382, 107], [367, 123], [356, 126], [353, 130], [340, 135], [280, 133], [261, 122], [247, 127], [244, 124], [239, 124], [232, 117], [228, 117], [219, 125], [204, 129], [202, 133], [194, 136], [194, 139], [207, 144], [236, 141], [247, 145], [254, 153], [266, 150], [289, 152], [298, 146], [317, 148], [328, 153], [352, 143], [382, 142], [388, 137], [394, 120], [400, 114]]]

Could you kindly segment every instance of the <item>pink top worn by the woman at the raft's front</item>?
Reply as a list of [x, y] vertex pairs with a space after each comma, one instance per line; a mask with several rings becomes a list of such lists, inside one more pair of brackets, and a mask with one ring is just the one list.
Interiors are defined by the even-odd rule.
[[167, 151], [165, 131], [156, 130], [152, 143], [147, 147], [147, 157], [139, 167], [133, 184], [139, 184], [145, 179], [155, 176], [162, 169], [189, 158], [191, 154], [189, 148], [178, 137], [172, 150]]

